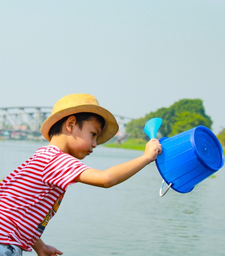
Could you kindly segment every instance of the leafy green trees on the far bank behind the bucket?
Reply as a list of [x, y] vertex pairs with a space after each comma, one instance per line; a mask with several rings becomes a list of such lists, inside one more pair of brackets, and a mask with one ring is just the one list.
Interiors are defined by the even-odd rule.
[[[161, 117], [163, 123], [159, 129], [160, 137], [171, 137], [196, 126], [202, 125], [212, 129], [212, 119], [205, 114], [205, 108], [201, 99], [181, 99], [169, 108], [159, 108], [155, 112], [146, 114], [145, 117], [132, 119], [126, 125], [126, 133], [136, 139], [148, 140], [143, 129], [146, 122], [154, 117]], [[225, 147], [225, 129], [218, 135], [223, 147]]]

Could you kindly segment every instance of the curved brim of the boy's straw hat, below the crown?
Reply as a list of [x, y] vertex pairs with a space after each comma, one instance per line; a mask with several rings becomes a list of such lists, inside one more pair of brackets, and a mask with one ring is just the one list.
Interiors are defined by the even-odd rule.
[[94, 104], [85, 104], [85, 105], [79, 105], [71, 108], [66, 108], [63, 110], [60, 110], [50, 117], [48, 117], [42, 124], [40, 131], [45, 139], [50, 141], [49, 138], [49, 130], [55, 124], [57, 121], [62, 119], [63, 117], [66, 117], [68, 115], [73, 115], [80, 112], [90, 112], [95, 113], [97, 115], [100, 115], [103, 117], [106, 121], [106, 126], [104, 130], [102, 130], [101, 134], [97, 138], [97, 145], [103, 144], [106, 141], [110, 140], [119, 130], [119, 126], [117, 124], [117, 121], [115, 117], [105, 108], [102, 108], [101, 106], [94, 105]]

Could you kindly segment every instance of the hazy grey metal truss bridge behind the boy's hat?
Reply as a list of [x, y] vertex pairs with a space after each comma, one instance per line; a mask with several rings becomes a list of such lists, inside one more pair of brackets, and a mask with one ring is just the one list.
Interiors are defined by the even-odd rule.
[[[0, 108], [0, 138], [44, 140], [40, 133], [43, 121], [51, 115], [52, 107]], [[119, 124], [117, 137], [125, 134], [129, 117], [114, 115]]]

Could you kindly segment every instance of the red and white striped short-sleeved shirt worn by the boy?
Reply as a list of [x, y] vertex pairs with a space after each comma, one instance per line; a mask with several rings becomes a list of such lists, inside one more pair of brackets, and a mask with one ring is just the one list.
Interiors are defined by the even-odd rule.
[[68, 184], [87, 168], [55, 146], [39, 148], [0, 182], [0, 243], [31, 251]]

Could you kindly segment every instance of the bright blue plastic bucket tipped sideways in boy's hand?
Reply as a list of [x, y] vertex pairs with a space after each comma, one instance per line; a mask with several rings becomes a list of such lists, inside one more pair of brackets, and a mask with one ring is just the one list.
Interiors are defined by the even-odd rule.
[[163, 151], [156, 159], [157, 168], [163, 180], [177, 192], [192, 191], [196, 184], [223, 167], [223, 148], [205, 126], [159, 141]]

